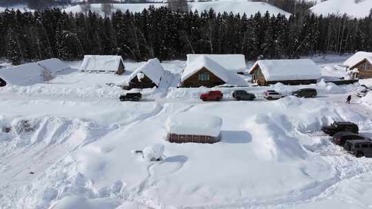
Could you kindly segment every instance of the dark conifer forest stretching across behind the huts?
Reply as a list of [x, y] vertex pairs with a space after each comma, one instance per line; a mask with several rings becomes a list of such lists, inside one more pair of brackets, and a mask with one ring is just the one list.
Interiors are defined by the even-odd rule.
[[350, 19], [293, 14], [216, 14], [213, 10], [172, 12], [150, 7], [112, 17], [60, 9], [0, 13], [0, 56], [14, 64], [50, 57], [74, 61], [84, 54], [118, 54], [145, 61], [186, 54], [245, 54], [257, 58], [298, 58], [342, 54], [372, 47], [372, 17]]

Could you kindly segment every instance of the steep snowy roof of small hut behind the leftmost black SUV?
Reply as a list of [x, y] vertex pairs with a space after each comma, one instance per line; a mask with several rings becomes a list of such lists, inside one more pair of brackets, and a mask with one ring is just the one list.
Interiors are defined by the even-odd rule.
[[138, 74], [145, 74], [149, 79], [152, 80], [157, 86], [161, 82], [161, 77], [164, 74], [164, 68], [161, 66], [160, 61], [157, 58], [153, 58], [147, 61], [145, 64], [138, 67], [129, 77], [132, 80]]

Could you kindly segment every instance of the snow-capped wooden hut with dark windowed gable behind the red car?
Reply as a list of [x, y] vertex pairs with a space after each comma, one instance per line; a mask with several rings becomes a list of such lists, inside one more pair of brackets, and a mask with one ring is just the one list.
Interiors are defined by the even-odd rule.
[[187, 60], [180, 85], [182, 87], [215, 87], [225, 83], [229, 83], [227, 69], [208, 56], [200, 55], [192, 62]]

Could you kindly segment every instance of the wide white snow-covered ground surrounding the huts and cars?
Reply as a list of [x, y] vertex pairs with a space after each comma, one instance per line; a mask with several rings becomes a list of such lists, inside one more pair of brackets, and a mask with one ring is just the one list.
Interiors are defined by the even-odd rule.
[[[313, 60], [324, 79], [338, 79], [348, 76], [345, 58]], [[0, 208], [372, 207], [372, 159], [357, 159], [320, 133], [347, 120], [372, 137], [371, 94], [344, 104], [363, 89], [358, 83], [214, 88], [224, 99], [202, 102], [209, 89], [176, 88], [185, 61], [168, 61], [161, 87], [143, 90], [141, 102], [120, 102], [125, 91], [109, 84], [142, 63], [125, 62], [121, 76], [77, 72], [80, 64], [68, 63], [72, 69], [49, 83], [0, 88]], [[262, 98], [266, 89], [302, 87], [318, 89], [318, 97]], [[235, 89], [257, 99], [233, 100]], [[222, 141], [166, 142], [165, 123], [176, 113], [218, 115]], [[162, 161], [132, 152], [151, 144], [165, 147]]]

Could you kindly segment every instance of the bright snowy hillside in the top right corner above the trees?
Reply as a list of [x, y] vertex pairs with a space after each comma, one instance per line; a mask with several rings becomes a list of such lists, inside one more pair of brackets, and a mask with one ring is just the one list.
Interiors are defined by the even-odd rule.
[[327, 0], [313, 6], [311, 11], [324, 16], [328, 14], [347, 14], [351, 17], [364, 18], [369, 15], [371, 9], [371, 0]]

